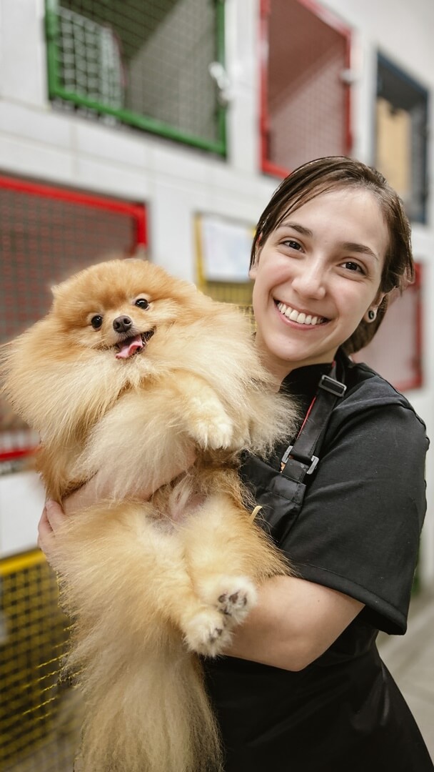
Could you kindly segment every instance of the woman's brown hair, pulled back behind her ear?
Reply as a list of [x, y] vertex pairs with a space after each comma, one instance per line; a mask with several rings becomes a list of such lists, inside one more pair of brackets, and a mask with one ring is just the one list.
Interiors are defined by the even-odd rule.
[[274, 191], [259, 218], [251, 249], [251, 266], [261, 252], [261, 245], [286, 215], [321, 193], [349, 186], [365, 188], [375, 195], [389, 232], [389, 246], [378, 287], [378, 293], [387, 294], [378, 306], [375, 321], [369, 323], [362, 319], [352, 336], [342, 345], [347, 354], [352, 354], [365, 347], [374, 337], [382, 323], [392, 289], [402, 292], [412, 283], [415, 275], [409, 220], [399, 195], [379, 171], [346, 156], [318, 158], [295, 169]]

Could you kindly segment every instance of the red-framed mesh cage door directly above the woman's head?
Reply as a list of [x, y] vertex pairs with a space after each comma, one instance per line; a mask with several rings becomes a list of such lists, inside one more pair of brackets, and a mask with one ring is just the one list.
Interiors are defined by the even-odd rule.
[[299, 0], [272, 0], [264, 73], [264, 168], [285, 174], [348, 152], [348, 37]]

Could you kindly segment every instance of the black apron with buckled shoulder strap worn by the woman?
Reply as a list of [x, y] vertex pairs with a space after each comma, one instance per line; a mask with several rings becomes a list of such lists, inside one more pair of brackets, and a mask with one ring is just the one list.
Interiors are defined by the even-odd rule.
[[[278, 544], [300, 513], [321, 440], [345, 386], [323, 375], [281, 470], [244, 459], [241, 477]], [[224, 657], [205, 660], [225, 772], [433, 772], [425, 743], [378, 655], [378, 631], [356, 618], [301, 672]]]

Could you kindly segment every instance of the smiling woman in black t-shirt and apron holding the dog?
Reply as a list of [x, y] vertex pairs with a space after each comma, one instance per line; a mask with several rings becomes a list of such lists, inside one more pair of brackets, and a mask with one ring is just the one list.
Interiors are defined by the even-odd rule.
[[434, 770], [375, 646], [378, 630], [406, 628], [425, 427], [348, 358], [413, 270], [401, 201], [350, 158], [294, 171], [258, 222], [257, 346], [304, 418], [291, 445], [245, 459], [241, 476], [297, 575], [268, 582], [228, 656], [206, 663], [225, 772]]

